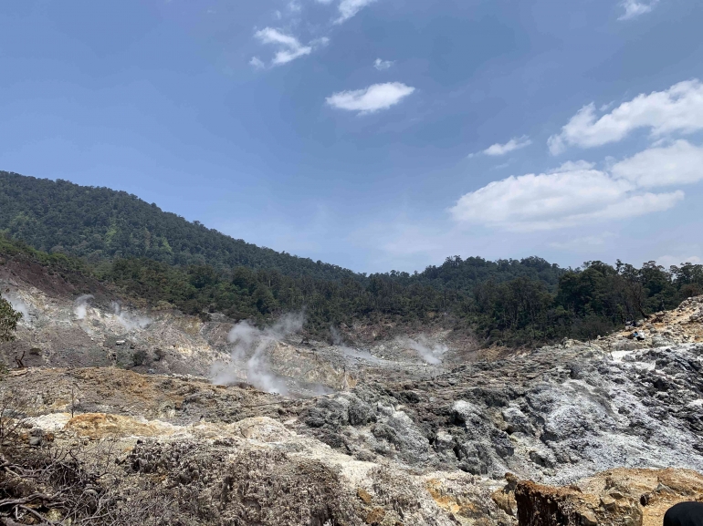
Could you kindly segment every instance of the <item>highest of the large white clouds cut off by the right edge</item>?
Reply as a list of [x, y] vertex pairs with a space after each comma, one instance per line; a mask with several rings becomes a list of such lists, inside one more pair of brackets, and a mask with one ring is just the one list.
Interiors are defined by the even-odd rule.
[[698, 79], [679, 82], [666, 91], [638, 95], [597, 118], [593, 103], [584, 106], [548, 141], [557, 155], [568, 146], [593, 148], [624, 139], [635, 129], [651, 129], [652, 135], [703, 129], [703, 84]]

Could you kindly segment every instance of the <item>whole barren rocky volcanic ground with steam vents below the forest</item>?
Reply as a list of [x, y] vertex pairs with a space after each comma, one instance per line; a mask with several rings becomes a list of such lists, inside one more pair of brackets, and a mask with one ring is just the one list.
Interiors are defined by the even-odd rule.
[[25, 315], [0, 346], [23, 447], [110, 444], [120, 491], [174, 496], [173, 524], [648, 526], [703, 499], [703, 297], [506, 354], [203, 322], [31, 266], [0, 285]]

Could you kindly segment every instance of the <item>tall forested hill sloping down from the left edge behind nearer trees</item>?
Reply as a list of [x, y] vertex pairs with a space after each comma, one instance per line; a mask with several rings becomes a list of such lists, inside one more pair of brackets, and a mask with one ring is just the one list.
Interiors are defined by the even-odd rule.
[[233, 239], [125, 191], [7, 171], [0, 171], [0, 231], [37, 250], [92, 262], [141, 257], [172, 265], [276, 269], [320, 279], [358, 277], [337, 265]]

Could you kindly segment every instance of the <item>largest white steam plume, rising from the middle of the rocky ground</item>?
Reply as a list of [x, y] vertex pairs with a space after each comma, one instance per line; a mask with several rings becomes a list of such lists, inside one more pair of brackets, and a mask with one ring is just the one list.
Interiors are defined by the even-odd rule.
[[[303, 326], [302, 314], [284, 315], [276, 324], [265, 329], [258, 329], [247, 320], [239, 322], [227, 335], [227, 341], [234, 344], [232, 360], [241, 362], [247, 359], [247, 382], [268, 393], [288, 394], [285, 381], [276, 376], [269, 368], [264, 352], [288, 335], [297, 333]], [[226, 385], [236, 382], [236, 366], [223, 364], [213, 366], [213, 383]]]

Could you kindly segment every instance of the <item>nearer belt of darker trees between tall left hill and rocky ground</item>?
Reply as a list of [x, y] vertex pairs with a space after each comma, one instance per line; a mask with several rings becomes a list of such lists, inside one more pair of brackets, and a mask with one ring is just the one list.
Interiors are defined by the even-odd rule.
[[[693, 264], [667, 271], [655, 263], [636, 269], [591, 262], [564, 271], [537, 258], [494, 263], [454, 257], [425, 273], [379, 273], [360, 282], [293, 277], [242, 266], [182, 267], [140, 258], [116, 258], [95, 266], [0, 236], [0, 255], [17, 254], [59, 272], [91, 274], [153, 306], [175, 307], [204, 319], [220, 312], [266, 324], [279, 314], [304, 309], [306, 328], [313, 335], [326, 335], [333, 325], [355, 321], [436, 323], [471, 330], [487, 346], [535, 346], [567, 336], [593, 338], [626, 320], [703, 294], [703, 267]], [[553, 275], [556, 284], [551, 284]]]

